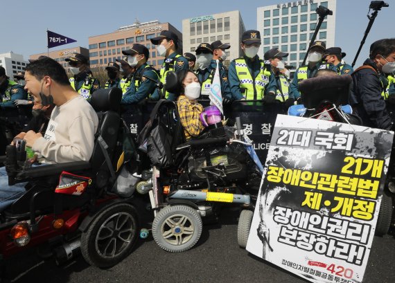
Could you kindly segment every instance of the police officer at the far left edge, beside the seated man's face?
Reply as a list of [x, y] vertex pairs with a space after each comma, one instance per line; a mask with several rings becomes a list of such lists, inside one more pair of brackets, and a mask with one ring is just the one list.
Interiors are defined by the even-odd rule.
[[0, 66], [0, 115], [7, 116], [5, 111], [15, 109], [15, 100], [27, 100], [27, 97], [23, 86], [10, 80], [6, 69]]

